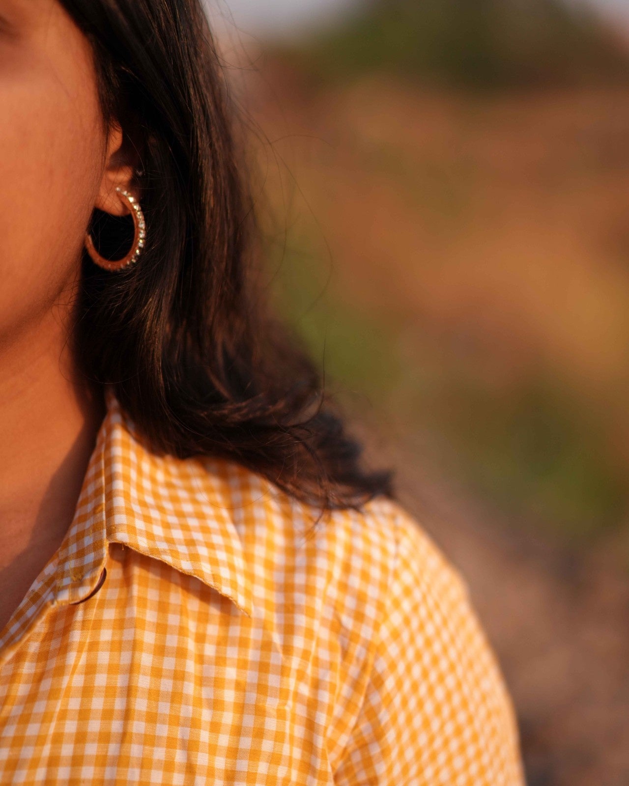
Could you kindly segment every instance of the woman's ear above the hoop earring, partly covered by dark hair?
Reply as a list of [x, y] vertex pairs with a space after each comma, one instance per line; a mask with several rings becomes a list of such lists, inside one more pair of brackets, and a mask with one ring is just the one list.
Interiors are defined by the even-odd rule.
[[123, 133], [119, 124], [114, 124], [109, 131], [105, 151], [105, 171], [101, 179], [94, 207], [112, 215], [127, 215], [129, 208], [116, 193], [116, 186], [131, 193], [137, 200], [140, 193], [137, 180], [134, 178], [139, 166], [139, 156], [131, 139]]

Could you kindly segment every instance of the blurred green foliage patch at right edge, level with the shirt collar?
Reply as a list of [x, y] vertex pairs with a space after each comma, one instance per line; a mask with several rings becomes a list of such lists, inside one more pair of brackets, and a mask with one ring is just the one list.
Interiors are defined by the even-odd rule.
[[[460, 369], [459, 369], [460, 370]], [[579, 541], [619, 525], [629, 495], [596, 419], [542, 373], [512, 395], [458, 375], [433, 403], [462, 474], [520, 520]]]

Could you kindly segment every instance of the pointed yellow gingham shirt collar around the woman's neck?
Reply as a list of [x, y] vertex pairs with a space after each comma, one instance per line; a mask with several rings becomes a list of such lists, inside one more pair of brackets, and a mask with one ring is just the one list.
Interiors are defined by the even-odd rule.
[[76, 603], [97, 586], [109, 544], [122, 543], [196, 576], [253, 615], [252, 583], [230, 509], [244, 468], [221, 458], [153, 454], [111, 387], [107, 411], [61, 544], [57, 604]]

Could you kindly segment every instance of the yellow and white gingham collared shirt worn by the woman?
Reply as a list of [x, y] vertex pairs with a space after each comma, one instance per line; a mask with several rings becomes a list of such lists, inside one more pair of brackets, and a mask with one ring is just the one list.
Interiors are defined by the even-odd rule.
[[0, 631], [2, 786], [523, 784], [465, 583], [400, 505], [312, 530], [107, 404], [64, 542]]

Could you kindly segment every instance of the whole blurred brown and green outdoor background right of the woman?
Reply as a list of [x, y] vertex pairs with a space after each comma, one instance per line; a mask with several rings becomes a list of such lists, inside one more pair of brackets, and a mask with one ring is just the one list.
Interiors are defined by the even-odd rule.
[[627, 786], [629, 2], [208, 12], [269, 291], [467, 578], [529, 786]]

